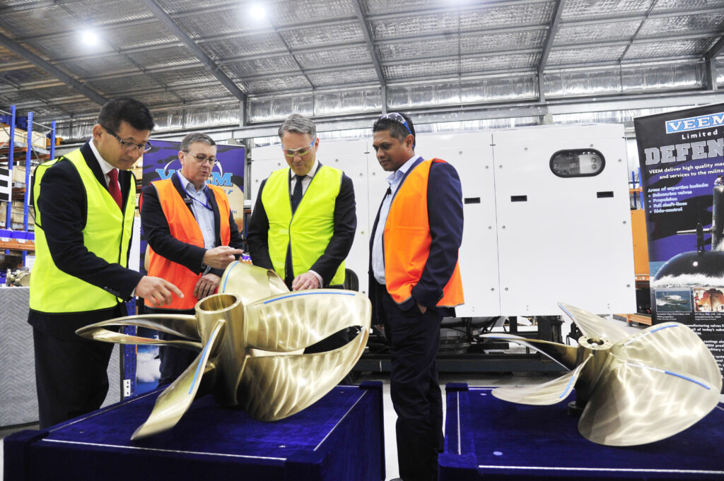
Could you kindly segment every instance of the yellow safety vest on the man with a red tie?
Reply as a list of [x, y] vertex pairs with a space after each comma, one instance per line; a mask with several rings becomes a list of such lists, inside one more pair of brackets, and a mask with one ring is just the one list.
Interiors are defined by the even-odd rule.
[[[122, 213], [104, 184], [98, 182], [80, 150], [64, 156], [80, 174], [85, 187], [86, 205], [83, 244], [89, 252], [108, 263], [128, 265], [128, 244], [133, 230], [135, 214], [135, 182]], [[42, 212], [38, 208], [43, 174], [59, 159], [42, 163], [35, 169], [33, 201], [35, 203], [35, 263], [30, 276], [30, 309], [41, 312], [84, 312], [114, 307], [122, 299], [88, 284], [80, 278], [61, 271], [53, 262], [42, 225]]]

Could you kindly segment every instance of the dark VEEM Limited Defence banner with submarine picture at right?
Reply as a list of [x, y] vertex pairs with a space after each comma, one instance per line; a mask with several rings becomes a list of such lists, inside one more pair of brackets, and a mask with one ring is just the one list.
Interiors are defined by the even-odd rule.
[[633, 119], [652, 322], [689, 325], [724, 372], [724, 103]]

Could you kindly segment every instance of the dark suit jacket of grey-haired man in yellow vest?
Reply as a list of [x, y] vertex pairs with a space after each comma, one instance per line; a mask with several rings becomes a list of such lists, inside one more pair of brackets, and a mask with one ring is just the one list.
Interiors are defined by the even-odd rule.
[[[317, 170], [321, 168], [321, 163]], [[266, 179], [261, 182], [259, 192], [256, 195], [256, 203], [251, 213], [251, 221], [247, 230], [247, 242], [249, 253], [254, 265], [263, 268], [274, 269], [269, 257], [269, 217], [266, 216], [264, 204], [261, 203], [261, 192], [264, 190]], [[305, 193], [306, 195], [306, 193]], [[291, 199], [290, 199], [291, 202]], [[355, 190], [350, 179], [342, 174], [342, 185], [337, 199], [334, 200], [334, 233], [332, 239], [315, 263], [308, 266], [308, 271], [318, 273], [324, 281], [324, 286], [332, 281], [337, 268], [347, 258], [355, 240], [357, 229], [357, 213], [355, 211]], [[295, 275], [299, 275], [297, 272]]]

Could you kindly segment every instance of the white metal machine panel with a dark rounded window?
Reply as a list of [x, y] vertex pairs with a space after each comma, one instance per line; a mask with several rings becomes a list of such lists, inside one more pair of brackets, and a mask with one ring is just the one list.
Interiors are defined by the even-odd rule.
[[[500, 130], [493, 139], [502, 312], [558, 315], [559, 301], [636, 312], [623, 126]], [[605, 158], [599, 175], [552, 173], [557, 151], [591, 148]]]

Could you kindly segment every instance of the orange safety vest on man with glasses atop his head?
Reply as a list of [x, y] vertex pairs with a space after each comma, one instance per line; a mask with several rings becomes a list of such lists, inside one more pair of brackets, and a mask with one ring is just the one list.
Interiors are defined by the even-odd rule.
[[[430, 255], [430, 224], [427, 216], [427, 181], [433, 162], [423, 161], [411, 171], [397, 190], [384, 224], [384, 282], [397, 304], [410, 299], [412, 288], [420, 281]], [[460, 265], [442, 289], [440, 307], [463, 304]]]

